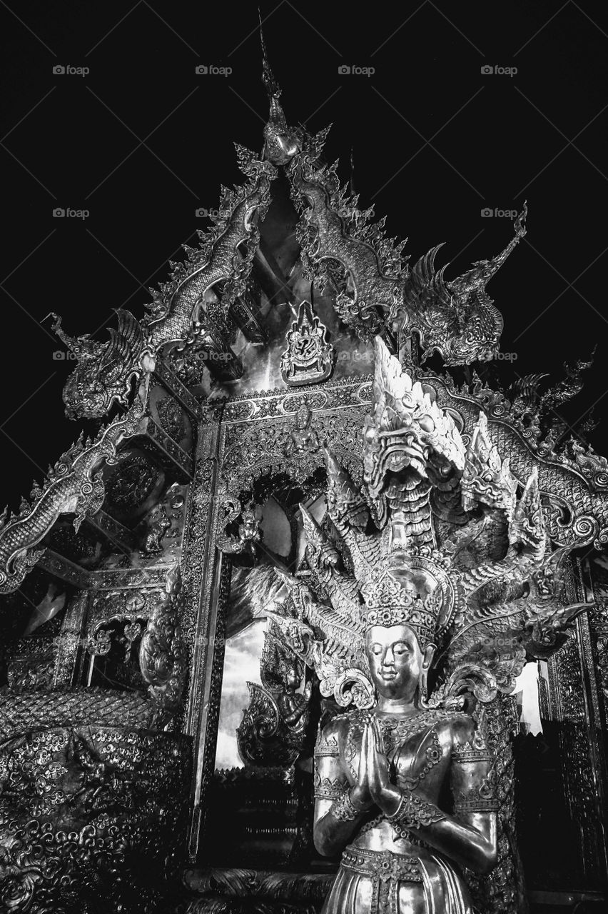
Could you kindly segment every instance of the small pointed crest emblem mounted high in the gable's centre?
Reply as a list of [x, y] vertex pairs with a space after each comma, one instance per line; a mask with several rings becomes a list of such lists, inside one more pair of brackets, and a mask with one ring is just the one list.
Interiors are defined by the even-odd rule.
[[312, 305], [302, 302], [281, 356], [281, 377], [290, 387], [318, 384], [330, 377], [333, 346], [327, 342], [326, 334], [327, 328], [314, 314]]

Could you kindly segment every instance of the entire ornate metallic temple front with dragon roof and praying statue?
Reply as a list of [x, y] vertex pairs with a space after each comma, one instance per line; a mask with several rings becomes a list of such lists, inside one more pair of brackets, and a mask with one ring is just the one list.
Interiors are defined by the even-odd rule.
[[585, 363], [489, 369], [526, 208], [410, 259], [263, 51], [262, 151], [147, 314], [54, 315], [88, 437], [1, 521], [2, 909], [603, 911], [608, 462], [556, 443]]

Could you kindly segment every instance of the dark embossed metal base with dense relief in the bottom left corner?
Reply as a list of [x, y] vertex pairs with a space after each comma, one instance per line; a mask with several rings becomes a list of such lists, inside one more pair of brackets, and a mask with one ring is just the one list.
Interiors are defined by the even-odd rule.
[[161, 877], [153, 887], [147, 868], [164, 865], [165, 843], [183, 831], [188, 762], [187, 740], [137, 729], [42, 728], [4, 742], [0, 771], [13, 772], [0, 801], [5, 909], [158, 904], [169, 885]]

